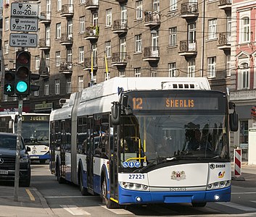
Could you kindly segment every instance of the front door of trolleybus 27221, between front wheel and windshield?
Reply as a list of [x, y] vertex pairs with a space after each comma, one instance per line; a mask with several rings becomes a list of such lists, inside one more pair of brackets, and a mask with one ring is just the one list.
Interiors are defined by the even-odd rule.
[[110, 139], [110, 197], [118, 200], [118, 179], [117, 179], [117, 163], [118, 162], [118, 140], [117, 127], [113, 127], [113, 137]]

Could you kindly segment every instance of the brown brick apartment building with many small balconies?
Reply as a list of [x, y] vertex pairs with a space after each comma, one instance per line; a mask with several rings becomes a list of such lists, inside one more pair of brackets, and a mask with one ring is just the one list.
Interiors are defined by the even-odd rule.
[[[36, 2], [38, 47], [28, 51], [40, 90], [25, 111], [50, 112], [70, 93], [117, 76], [208, 77], [222, 91], [231, 83], [230, 0]], [[12, 69], [20, 48], [9, 47], [10, 7], [3, 19], [4, 68]], [[1, 111], [12, 108], [17, 99], [4, 95]]]

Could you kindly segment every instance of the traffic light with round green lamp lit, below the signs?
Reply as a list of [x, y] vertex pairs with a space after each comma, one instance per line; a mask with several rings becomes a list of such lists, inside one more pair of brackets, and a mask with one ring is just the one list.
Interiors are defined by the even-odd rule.
[[28, 51], [16, 53], [15, 93], [17, 95], [30, 95], [30, 60]]

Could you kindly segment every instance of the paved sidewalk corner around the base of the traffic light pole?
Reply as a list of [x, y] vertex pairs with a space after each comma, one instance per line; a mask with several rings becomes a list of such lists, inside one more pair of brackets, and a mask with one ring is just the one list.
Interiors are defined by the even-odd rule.
[[14, 200], [14, 187], [0, 184], [1, 217], [55, 216], [46, 199], [33, 187], [19, 187], [18, 201]]

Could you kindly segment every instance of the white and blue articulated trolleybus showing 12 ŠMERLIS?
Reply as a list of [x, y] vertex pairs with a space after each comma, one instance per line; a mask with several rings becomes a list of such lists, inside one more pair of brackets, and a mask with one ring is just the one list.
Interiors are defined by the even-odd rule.
[[234, 108], [206, 78], [114, 77], [51, 111], [51, 172], [107, 208], [230, 201]]

